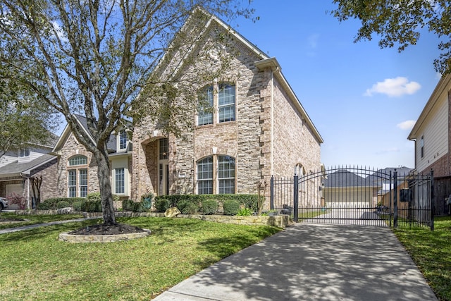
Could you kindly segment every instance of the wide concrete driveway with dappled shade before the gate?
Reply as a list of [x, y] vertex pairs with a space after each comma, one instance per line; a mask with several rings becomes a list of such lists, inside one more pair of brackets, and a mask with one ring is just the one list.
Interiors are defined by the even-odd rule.
[[298, 223], [154, 300], [437, 298], [390, 229]]

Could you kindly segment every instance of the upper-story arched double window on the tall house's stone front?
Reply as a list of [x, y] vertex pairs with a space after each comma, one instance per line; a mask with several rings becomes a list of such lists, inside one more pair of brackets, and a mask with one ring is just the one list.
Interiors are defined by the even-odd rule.
[[199, 95], [197, 125], [235, 121], [235, 85], [220, 83], [206, 87]]

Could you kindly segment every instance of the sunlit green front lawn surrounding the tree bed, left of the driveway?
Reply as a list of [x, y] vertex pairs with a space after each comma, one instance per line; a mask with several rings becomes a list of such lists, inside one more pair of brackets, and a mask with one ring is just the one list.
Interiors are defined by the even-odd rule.
[[138, 240], [73, 244], [58, 234], [97, 221], [0, 235], [0, 300], [149, 300], [218, 260], [280, 231], [194, 219], [122, 218]]

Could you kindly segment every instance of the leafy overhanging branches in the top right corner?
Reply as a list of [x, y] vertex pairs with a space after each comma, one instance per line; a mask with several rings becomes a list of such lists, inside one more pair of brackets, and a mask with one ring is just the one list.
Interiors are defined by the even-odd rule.
[[434, 68], [445, 75], [451, 72], [451, 4], [447, 0], [333, 0], [338, 8], [332, 11], [338, 20], [359, 19], [362, 26], [354, 42], [381, 39], [379, 46], [403, 51], [414, 45], [426, 28], [440, 39], [440, 56]]

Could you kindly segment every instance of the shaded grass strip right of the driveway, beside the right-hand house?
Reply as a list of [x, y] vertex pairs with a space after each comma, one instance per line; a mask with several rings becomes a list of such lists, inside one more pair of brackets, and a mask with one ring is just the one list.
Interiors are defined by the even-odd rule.
[[451, 300], [451, 216], [435, 218], [434, 231], [397, 228], [395, 235], [440, 300]]

